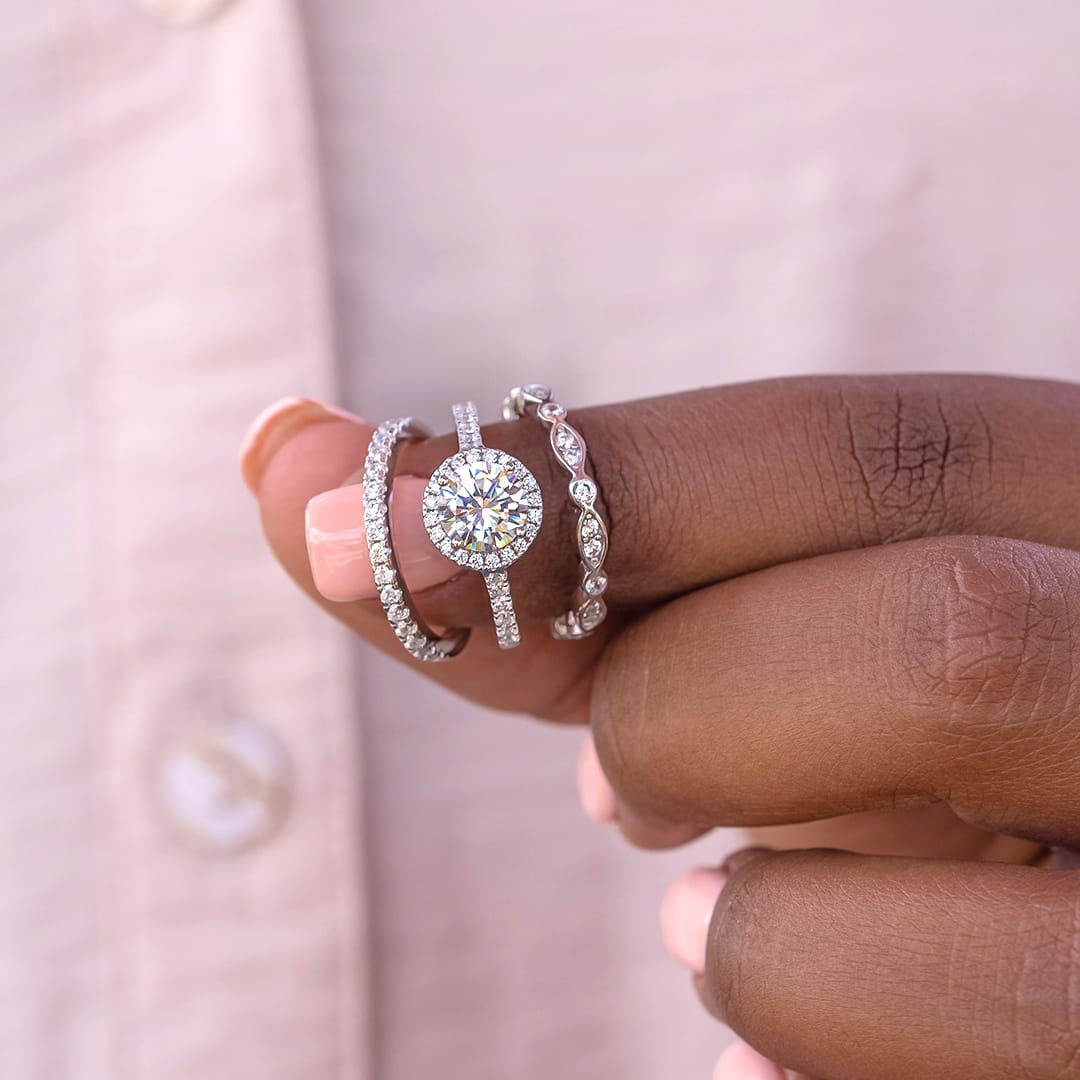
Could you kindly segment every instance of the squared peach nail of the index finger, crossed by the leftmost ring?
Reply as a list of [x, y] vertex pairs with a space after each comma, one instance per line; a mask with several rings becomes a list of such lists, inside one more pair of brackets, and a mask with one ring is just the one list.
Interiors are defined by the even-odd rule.
[[[431, 542], [423, 526], [421, 476], [399, 476], [390, 498], [390, 528], [397, 566], [410, 592], [449, 581], [461, 571]], [[379, 586], [372, 573], [364, 531], [364, 487], [350, 484], [316, 495], [309, 503], [308, 561], [315, 588], [328, 600], [374, 599]]]

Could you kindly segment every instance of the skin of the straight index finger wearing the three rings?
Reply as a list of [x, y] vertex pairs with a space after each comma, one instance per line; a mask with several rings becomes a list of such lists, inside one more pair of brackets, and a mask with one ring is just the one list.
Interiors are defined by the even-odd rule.
[[[570, 414], [611, 527], [607, 597], [621, 609], [794, 558], [921, 536], [1080, 548], [1078, 417], [1078, 387], [973, 376], [778, 380]], [[484, 438], [523, 460], [543, 488], [545, 526], [512, 577], [519, 613], [550, 617], [565, 608], [578, 566], [566, 475], [537, 421], [497, 424]], [[402, 451], [414, 525], [406, 543], [423, 549], [417, 496], [456, 448], [444, 435]], [[357, 446], [328, 486], [362, 460]], [[363, 558], [356, 569], [369, 572]], [[424, 581], [429, 620], [486, 621], [478, 575], [450, 564], [443, 572], [442, 584]], [[336, 595], [372, 596], [374, 582]]]

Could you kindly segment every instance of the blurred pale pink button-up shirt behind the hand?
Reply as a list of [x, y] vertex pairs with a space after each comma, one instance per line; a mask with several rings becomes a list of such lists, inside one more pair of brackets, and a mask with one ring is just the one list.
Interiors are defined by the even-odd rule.
[[[180, 25], [181, 23], [186, 25]], [[705, 1076], [578, 740], [345, 639], [269, 401], [1080, 375], [1080, 8], [58, 0], [0, 35], [0, 1076]]]

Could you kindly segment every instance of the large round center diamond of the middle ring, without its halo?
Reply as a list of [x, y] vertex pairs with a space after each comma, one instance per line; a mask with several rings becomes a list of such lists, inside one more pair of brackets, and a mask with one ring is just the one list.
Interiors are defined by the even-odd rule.
[[445, 470], [435, 489], [435, 519], [455, 548], [502, 551], [525, 527], [525, 482], [504, 461], [462, 461]]

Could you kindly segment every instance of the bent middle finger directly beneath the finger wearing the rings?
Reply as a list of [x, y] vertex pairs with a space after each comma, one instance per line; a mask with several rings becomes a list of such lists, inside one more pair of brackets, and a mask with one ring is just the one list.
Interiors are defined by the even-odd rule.
[[605, 654], [599, 759], [621, 802], [667, 821], [947, 802], [970, 824], [1077, 846], [1078, 597], [1080, 554], [972, 538], [702, 590]]

